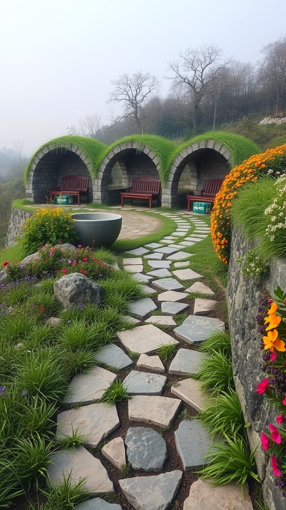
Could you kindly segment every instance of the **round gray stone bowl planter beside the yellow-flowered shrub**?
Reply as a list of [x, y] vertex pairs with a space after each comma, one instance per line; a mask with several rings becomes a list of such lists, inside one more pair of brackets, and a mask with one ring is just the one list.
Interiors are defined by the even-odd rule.
[[91, 248], [109, 248], [117, 240], [122, 227], [120, 214], [75, 213], [72, 218], [78, 243]]

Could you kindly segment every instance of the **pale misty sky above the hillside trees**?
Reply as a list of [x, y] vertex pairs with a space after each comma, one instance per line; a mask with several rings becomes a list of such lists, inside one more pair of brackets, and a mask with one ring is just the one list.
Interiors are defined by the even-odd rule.
[[255, 64], [285, 19], [285, 0], [0, 0], [0, 149], [20, 140], [31, 154], [88, 114], [108, 123], [111, 80], [171, 77], [186, 48]]

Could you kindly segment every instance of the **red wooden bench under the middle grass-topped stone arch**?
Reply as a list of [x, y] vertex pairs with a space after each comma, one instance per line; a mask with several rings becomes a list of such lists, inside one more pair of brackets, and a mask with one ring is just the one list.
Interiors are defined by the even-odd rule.
[[149, 209], [152, 208], [152, 200], [157, 198], [159, 207], [160, 187], [160, 179], [155, 179], [155, 177], [135, 177], [132, 181], [132, 188], [129, 191], [120, 193], [121, 207], [124, 207], [124, 198], [130, 198], [131, 205], [133, 205], [133, 198], [146, 198], [146, 200], [149, 200]]

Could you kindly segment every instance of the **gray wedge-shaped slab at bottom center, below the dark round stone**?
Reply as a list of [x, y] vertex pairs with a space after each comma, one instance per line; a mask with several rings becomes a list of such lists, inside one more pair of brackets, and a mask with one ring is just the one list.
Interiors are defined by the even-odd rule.
[[167, 510], [176, 496], [182, 471], [119, 480], [121, 490], [135, 510]]

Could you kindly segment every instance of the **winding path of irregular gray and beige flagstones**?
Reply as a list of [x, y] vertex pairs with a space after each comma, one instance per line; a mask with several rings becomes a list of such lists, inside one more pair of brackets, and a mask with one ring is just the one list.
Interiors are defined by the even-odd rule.
[[[203, 275], [188, 267], [192, 254], [185, 251], [209, 235], [209, 226], [198, 215], [157, 214], [177, 223], [173, 234], [158, 243], [149, 243], [130, 250], [127, 252], [128, 258], [123, 259], [124, 269], [132, 272], [137, 281], [146, 284], [144, 289], [149, 297], [137, 299], [129, 305], [129, 313], [133, 316], [129, 319], [134, 322], [134, 327], [119, 331], [119, 343], [106, 345], [97, 355], [97, 361], [107, 365], [108, 370], [96, 366], [88, 373], [76, 375], [71, 381], [65, 398], [65, 405], [70, 409], [58, 415], [56, 437], [71, 435], [73, 430], [78, 429], [85, 435], [85, 439], [81, 447], [52, 454], [53, 464], [49, 465], [49, 476], [55, 486], [69, 473], [75, 481], [87, 478], [85, 486], [91, 491], [92, 499], [77, 505], [76, 510], [207, 510], [210, 507], [214, 510], [250, 510], [252, 505], [248, 495], [243, 499], [240, 488], [232, 485], [223, 487], [221, 498], [220, 488], [215, 488], [212, 505], [212, 490], [209, 484], [202, 480], [191, 485], [190, 495], [185, 498], [184, 503], [180, 503], [181, 506], [174, 503], [180, 484], [183, 483], [184, 472], [195, 470], [204, 464], [203, 457], [212, 442], [196, 419], [182, 419], [177, 430], [173, 432], [177, 453], [181, 458], [181, 469], [166, 471], [164, 465], [168, 457], [168, 445], [152, 427], [169, 427], [177, 418], [182, 401], [196, 411], [203, 409], [205, 396], [199, 389], [198, 382], [191, 376], [196, 373], [204, 354], [185, 347], [203, 342], [213, 331], [224, 331], [224, 323], [208, 316], [217, 304], [215, 300], [209, 299], [214, 292], [200, 281]], [[147, 274], [143, 273], [144, 258], [153, 268]], [[172, 265], [174, 270], [171, 269]], [[190, 280], [194, 280], [194, 283], [185, 288], [184, 282]], [[193, 314], [188, 315], [180, 326], [175, 327], [174, 338], [156, 324], [176, 326], [174, 315], [183, 311], [190, 312], [189, 303], [181, 302], [187, 301], [190, 292], [200, 292], [208, 299], [195, 299]], [[161, 315], [152, 315], [156, 310], [161, 312]], [[178, 346], [178, 350], [165, 373], [165, 367], [156, 355], [156, 350], [167, 344]], [[140, 354], [136, 366], [128, 355], [131, 352]], [[128, 400], [130, 426], [125, 438], [120, 434], [121, 424], [116, 405], [98, 402], [104, 390], [117, 378], [112, 367], [113, 370], [130, 369], [123, 380], [128, 393], [132, 395]], [[179, 382], [174, 382], [170, 389], [171, 396], [167, 397], [163, 393], [168, 374], [173, 377], [172, 380], [177, 376]], [[74, 404], [78, 406], [74, 407]], [[108, 441], [114, 431], [118, 431], [118, 435]], [[101, 454], [110, 463], [110, 467], [119, 469], [129, 463], [132, 469], [139, 472], [139, 476], [123, 476], [119, 480], [121, 504], [110, 503], [100, 497], [115, 493], [113, 481], [110, 479], [112, 475], [108, 475], [97, 458], [97, 450], [94, 450], [104, 440], [106, 444], [101, 449]], [[92, 453], [89, 451], [91, 448]], [[203, 503], [204, 494], [210, 506]], [[173, 504], [175, 506], [172, 506]]]

